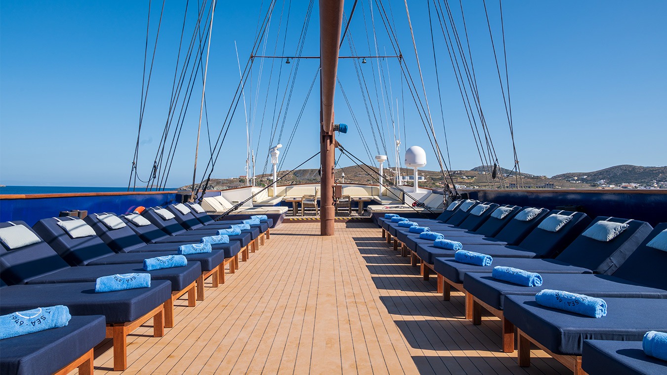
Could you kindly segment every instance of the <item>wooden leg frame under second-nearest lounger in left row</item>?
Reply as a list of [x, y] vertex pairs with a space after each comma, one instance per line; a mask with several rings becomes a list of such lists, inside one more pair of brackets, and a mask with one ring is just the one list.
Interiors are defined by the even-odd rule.
[[114, 371], [123, 371], [127, 368], [127, 335], [151, 319], [153, 319], [153, 337], [162, 337], [165, 332], [164, 304], [153, 308], [153, 310], [133, 322], [107, 324], [106, 338], [113, 340]]

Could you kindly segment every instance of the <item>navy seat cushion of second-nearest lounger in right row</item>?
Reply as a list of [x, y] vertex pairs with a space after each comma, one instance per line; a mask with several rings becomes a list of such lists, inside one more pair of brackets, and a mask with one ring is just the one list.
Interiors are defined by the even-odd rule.
[[604, 298], [607, 315], [596, 319], [540, 306], [535, 296], [506, 296], [505, 318], [556, 354], [581, 355], [587, 340], [642, 340], [650, 330], [666, 332], [667, 300]]

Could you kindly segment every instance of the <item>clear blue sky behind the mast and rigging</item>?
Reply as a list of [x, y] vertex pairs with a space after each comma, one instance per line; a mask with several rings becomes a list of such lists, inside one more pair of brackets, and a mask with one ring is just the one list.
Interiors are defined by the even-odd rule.
[[[239, 80], [234, 42], [238, 45], [243, 65], [255, 39], [257, 20], [267, 9], [267, 3], [268, 0], [219, 3], [207, 77], [211, 133], [219, 131]], [[346, 1], [347, 13], [352, 3]], [[458, 3], [450, 3], [452, 7], [458, 7]], [[267, 55], [273, 54], [276, 41], [277, 55], [296, 54], [307, 4], [308, 1], [303, 0], [293, 0], [291, 6], [289, 0], [284, 5], [283, 1], [277, 2], [266, 39]], [[375, 55], [374, 19], [379, 53], [384, 55], [386, 51], [393, 55], [378, 10], [374, 9], [372, 18], [369, 4], [368, 0], [360, 1], [348, 37], [352, 37], [359, 55]], [[425, 4], [410, 2], [410, 15], [434, 126], [444, 150]], [[155, 22], [160, 6], [161, 1], [153, 1], [151, 46], [155, 41]], [[190, 1], [189, 6], [192, 14], [196, 2]], [[487, 1], [487, 6], [494, 38], [497, 38], [496, 47], [500, 48], [498, 2]], [[394, 17], [406, 65], [421, 88], [404, 3], [390, 1], [386, 7]], [[184, 1], [167, 1], [143, 120], [139, 159], [142, 178], [151, 169], [167, 118], [184, 10]], [[127, 185], [139, 123], [147, 11], [148, 1], [15, 0], [0, 3], [1, 184]], [[500, 162], [511, 168], [512, 147], [482, 2], [465, 1], [464, 11], [482, 108]], [[303, 55], [318, 54], [317, 12], [315, 1]], [[454, 9], [454, 13], [457, 12], [460, 13]], [[283, 38], [288, 14], [287, 37]], [[667, 23], [664, 21], [667, 2], [504, 1], [503, 15], [514, 132], [522, 171], [551, 176], [618, 164], [667, 164], [664, 151], [667, 139]], [[185, 32], [187, 39], [191, 35], [191, 21], [189, 17]], [[440, 26], [434, 23], [434, 27]], [[481, 164], [480, 158], [442, 33], [436, 32], [435, 41], [452, 168], [470, 169]], [[283, 42], [284, 52], [281, 51]], [[344, 44], [341, 55], [350, 55], [348, 43]], [[247, 111], [251, 126], [254, 126], [253, 149], [257, 149], [259, 141], [257, 173], [263, 171], [266, 152], [271, 146], [268, 134], [275, 127], [280, 129], [283, 120], [285, 127], [279, 141], [283, 145], [287, 143], [317, 69], [316, 60], [301, 61], [291, 103], [283, 119], [285, 109], [281, 117], [275, 116], [273, 109], [280, 107], [286, 76], [296, 64], [295, 61], [290, 65], [283, 61], [273, 62], [273, 76], [269, 81], [271, 60], [264, 61], [261, 71], [259, 59], [255, 61], [253, 76], [245, 91]], [[382, 90], [385, 86], [391, 90], [394, 111], [396, 99], [402, 103], [404, 98], [405, 113], [400, 104], [400, 115], [393, 114], [400, 119], [401, 133], [406, 127], [407, 140], [401, 135], [404, 145], [424, 147], [429, 158], [426, 168], [438, 169], [405, 82], [402, 90], [396, 59], [380, 63], [386, 75]], [[373, 60], [360, 66], [373, 93], [371, 99], [383, 136], [391, 149], [394, 134], [388, 129], [392, 129], [392, 113], [388, 103], [382, 103], [382, 97], [375, 94], [376, 90], [380, 92], [376, 64]], [[282, 78], [278, 85], [279, 69], [282, 69]], [[372, 155], [376, 155], [378, 150], [354, 66], [347, 60], [340, 63], [339, 69], [339, 78], [360, 123], [359, 130], [364, 133]], [[257, 89], [259, 77], [261, 83]], [[293, 145], [283, 155], [283, 169], [295, 167], [319, 149], [317, 87], [315, 83]], [[200, 91], [201, 83], [191, 99], [167, 185], [180, 186], [191, 181]], [[276, 91], [279, 92], [277, 99]], [[266, 113], [261, 125], [265, 104]], [[339, 141], [352, 153], [368, 160], [340, 89], [335, 106], [337, 122], [348, 123], [351, 127], [347, 135], [338, 137]], [[200, 168], [208, 152], [205, 128], [202, 133]], [[277, 141], [276, 135], [273, 143]], [[380, 152], [384, 153], [382, 145]], [[341, 159], [341, 165], [350, 164], [347, 159]], [[306, 167], [317, 168], [317, 165], [318, 162], [313, 161]], [[213, 177], [245, 175], [244, 167], [245, 117], [241, 102]]]

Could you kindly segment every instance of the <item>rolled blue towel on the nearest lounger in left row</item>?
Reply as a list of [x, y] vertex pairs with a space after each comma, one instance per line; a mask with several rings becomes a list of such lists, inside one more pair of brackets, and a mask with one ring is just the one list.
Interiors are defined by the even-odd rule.
[[64, 327], [71, 317], [69, 308], [61, 304], [3, 315], [0, 316], [0, 340]]

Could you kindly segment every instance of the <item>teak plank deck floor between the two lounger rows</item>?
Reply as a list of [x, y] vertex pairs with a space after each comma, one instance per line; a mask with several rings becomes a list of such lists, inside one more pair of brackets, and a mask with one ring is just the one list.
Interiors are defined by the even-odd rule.
[[[462, 294], [436, 294], [368, 222], [283, 224], [206, 299], [179, 300], [176, 325], [128, 337], [127, 374], [571, 374], [534, 350], [532, 367], [500, 350], [500, 321], [462, 318]], [[95, 350], [110, 372], [111, 343]], [[115, 372], [111, 372], [115, 374]]]

